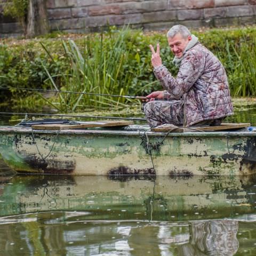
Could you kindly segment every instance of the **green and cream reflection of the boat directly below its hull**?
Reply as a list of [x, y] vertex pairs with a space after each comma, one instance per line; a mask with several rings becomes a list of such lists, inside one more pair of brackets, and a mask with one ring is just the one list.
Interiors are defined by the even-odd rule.
[[86, 219], [181, 221], [255, 211], [253, 177], [157, 177], [111, 180], [71, 175], [17, 175], [2, 181], [0, 215], [86, 211]]

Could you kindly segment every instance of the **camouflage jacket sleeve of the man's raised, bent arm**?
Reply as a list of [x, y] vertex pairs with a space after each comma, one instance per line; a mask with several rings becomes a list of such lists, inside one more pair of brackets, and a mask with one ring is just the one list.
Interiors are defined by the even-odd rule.
[[154, 68], [154, 74], [163, 88], [170, 93], [170, 98], [180, 99], [203, 74], [204, 69], [204, 54], [191, 50], [181, 61], [177, 77], [173, 77], [164, 65]]

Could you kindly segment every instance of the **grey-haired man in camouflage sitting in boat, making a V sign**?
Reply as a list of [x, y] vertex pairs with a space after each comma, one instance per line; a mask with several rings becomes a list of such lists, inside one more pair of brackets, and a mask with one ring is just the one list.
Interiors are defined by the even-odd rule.
[[[150, 127], [220, 125], [233, 115], [226, 71], [218, 58], [204, 47], [187, 27], [175, 25], [167, 32], [173, 64], [179, 67], [173, 77], [162, 65], [160, 47], [152, 52], [154, 74], [164, 91], [150, 93], [144, 106]], [[155, 100], [158, 99], [158, 100]]]

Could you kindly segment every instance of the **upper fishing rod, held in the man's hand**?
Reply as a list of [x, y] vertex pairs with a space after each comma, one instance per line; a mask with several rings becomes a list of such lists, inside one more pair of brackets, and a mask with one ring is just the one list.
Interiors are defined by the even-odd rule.
[[25, 87], [0, 87], [0, 89], [9, 90], [25, 90], [25, 91], [38, 91], [38, 92], [59, 92], [59, 93], [74, 93], [74, 94], [86, 94], [86, 95], [97, 95], [97, 96], [109, 96], [109, 97], [118, 97], [126, 99], [139, 99], [147, 100], [145, 96], [127, 96], [127, 95], [116, 95], [116, 94], [105, 94], [105, 93], [93, 93], [93, 92], [73, 92], [73, 91], [60, 91], [60, 90], [44, 90], [44, 89], [34, 89], [34, 88], [25, 88]]

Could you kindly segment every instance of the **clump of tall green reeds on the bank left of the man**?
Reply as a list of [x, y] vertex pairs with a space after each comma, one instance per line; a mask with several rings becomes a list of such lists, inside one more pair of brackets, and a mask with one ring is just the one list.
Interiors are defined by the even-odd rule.
[[[129, 70], [126, 47], [130, 30], [126, 27], [119, 31], [109, 30], [107, 34], [87, 35], [82, 44], [82, 50], [69, 39], [62, 41], [66, 61], [70, 70], [61, 77], [60, 85], [54, 82], [54, 77], [44, 67], [54, 90], [76, 91], [99, 94], [125, 95], [131, 84], [132, 73]], [[106, 38], [106, 40], [105, 40]], [[52, 54], [45, 46], [46, 52], [53, 60]], [[48, 100], [49, 102], [49, 100]], [[51, 101], [58, 110], [75, 111], [93, 107], [109, 108], [124, 107], [123, 98], [111, 98], [96, 95], [60, 93]]]

